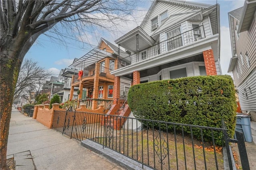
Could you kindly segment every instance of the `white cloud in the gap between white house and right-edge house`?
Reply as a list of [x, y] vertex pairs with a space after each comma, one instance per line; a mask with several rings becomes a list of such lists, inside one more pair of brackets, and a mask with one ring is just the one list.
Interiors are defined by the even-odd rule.
[[220, 27], [220, 65], [222, 74], [232, 75], [228, 73], [228, 65], [231, 57], [232, 52], [229, 28], [222, 26]]

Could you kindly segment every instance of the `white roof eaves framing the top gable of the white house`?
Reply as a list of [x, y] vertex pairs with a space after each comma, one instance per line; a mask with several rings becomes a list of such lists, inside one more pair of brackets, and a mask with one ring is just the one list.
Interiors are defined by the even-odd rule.
[[146, 23], [146, 20], [150, 17], [151, 12], [153, 11], [154, 7], [156, 6], [157, 2], [165, 2], [169, 4], [174, 4], [178, 6], [184, 6], [184, 7], [189, 7], [189, 8], [194, 8], [194, 9], [207, 9], [211, 7], [212, 5], [209, 4], [202, 4], [198, 2], [189, 2], [185, 0], [154, 0], [154, 2], [151, 4], [150, 8], [148, 9], [148, 12], [143, 19], [142, 23], [140, 24], [140, 27], [143, 27], [144, 24]]

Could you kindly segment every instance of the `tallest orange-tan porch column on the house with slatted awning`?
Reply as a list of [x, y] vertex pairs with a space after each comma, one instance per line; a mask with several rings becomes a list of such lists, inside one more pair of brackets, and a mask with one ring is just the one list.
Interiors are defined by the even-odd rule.
[[[92, 98], [98, 99], [99, 92], [99, 77], [100, 77], [100, 63], [95, 63], [95, 74], [94, 74], [94, 83], [93, 83], [93, 92]], [[103, 89], [105, 90], [105, 89]], [[92, 100], [92, 109], [97, 109], [97, 100]]]

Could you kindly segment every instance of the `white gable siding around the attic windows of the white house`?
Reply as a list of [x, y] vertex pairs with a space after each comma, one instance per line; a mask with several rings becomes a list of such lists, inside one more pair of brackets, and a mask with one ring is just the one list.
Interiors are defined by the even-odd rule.
[[[176, 5], [167, 4], [167, 3], [164, 3], [164, 2], [158, 2], [156, 4], [156, 6], [154, 7], [153, 11], [151, 12], [151, 14], [150, 14], [148, 20], [146, 21], [146, 23], [144, 23], [144, 25], [142, 25], [142, 29], [148, 35], [152, 35], [152, 33], [155, 31], [154, 30], [153, 32], [151, 32], [151, 20], [153, 18], [156, 18], [157, 16], [160, 16], [160, 14], [165, 12], [167, 9], [168, 9], [168, 16], [172, 16], [173, 14], [186, 13], [186, 12], [190, 12], [190, 11], [195, 10], [195, 9], [187, 8], [187, 7], [184, 7], [184, 6], [176, 6]], [[179, 17], [179, 16], [177, 16], [177, 17]], [[171, 21], [172, 20], [170, 20], [170, 22]], [[159, 17], [158, 17], [158, 24], [159, 23], [160, 23], [160, 20], [159, 20]], [[168, 25], [167, 22], [165, 24]]]

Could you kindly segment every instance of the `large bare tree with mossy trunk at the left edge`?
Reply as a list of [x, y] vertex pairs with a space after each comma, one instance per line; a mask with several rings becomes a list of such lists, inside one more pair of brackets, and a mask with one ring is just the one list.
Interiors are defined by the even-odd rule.
[[[0, 169], [6, 151], [14, 90], [24, 56], [42, 33], [62, 35], [96, 27], [112, 29], [126, 19], [135, 1], [128, 0], [0, 0]], [[128, 4], [129, 3], [129, 4]], [[60, 24], [57, 24], [60, 23]], [[57, 25], [56, 25], [57, 24]], [[77, 33], [82, 35], [81, 32]]]

